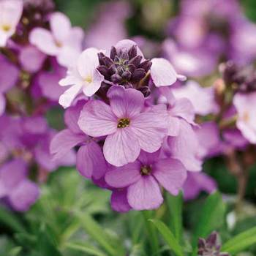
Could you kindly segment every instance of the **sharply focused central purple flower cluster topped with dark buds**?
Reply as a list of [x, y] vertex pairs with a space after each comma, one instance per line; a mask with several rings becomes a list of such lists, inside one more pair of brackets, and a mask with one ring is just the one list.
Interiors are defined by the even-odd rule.
[[[116, 211], [158, 208], [201, 170], [195, 111], [174, 97], [178, 75], [166, 59], [145, 59], [131, 40], [110, 50], [88, 48], [60, 81], [67, 129], [52, 140], [54, 159], [78, 147], [77, 168], [110, 189]], [[143, 93], [144, 92], [144, 93]], [[145, 93], [148, 92], [148, 93]]]

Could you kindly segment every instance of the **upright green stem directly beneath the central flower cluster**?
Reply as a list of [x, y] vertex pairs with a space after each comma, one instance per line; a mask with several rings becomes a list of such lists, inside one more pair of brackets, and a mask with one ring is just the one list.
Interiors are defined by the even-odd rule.
[[151, 211], [142, 211], [143, 218], [146, 225], [146, 231], [148, 236], [148, 241], [151, 246], [152, 256], [157, 256], [159, 253], [159, 243], [157, 237], [157, 230], [154, 227], [153, 223], [149, 222], [148, 219], [152, 219]]

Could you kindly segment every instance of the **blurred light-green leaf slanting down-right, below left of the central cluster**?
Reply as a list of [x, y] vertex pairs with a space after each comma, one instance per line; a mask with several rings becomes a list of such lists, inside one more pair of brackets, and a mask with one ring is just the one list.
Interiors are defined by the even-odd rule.
[[78, 214], [78, 217], [86, 233], [88, 233], [91, 238], [94, 238], [109, 255], [125, 255], [121, 242], [109, 236], [89, 214]]

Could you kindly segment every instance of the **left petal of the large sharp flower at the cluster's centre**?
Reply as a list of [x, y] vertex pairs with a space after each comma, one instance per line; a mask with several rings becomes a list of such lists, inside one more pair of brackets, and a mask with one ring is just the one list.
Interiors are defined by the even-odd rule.
[[86, 135], [93, 137], [110, 135], [117, 129], [116, 116], [110, 106], [96, 99], [84, 105], [78, 125]]

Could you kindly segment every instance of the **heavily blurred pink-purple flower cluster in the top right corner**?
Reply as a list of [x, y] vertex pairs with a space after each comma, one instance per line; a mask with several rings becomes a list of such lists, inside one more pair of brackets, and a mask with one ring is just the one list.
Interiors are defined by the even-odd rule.
[[214, 72], [219, 59], [255, 61], [255, 32], [237, 0], [181, 0], [162, 50], [178, 72], [200, 78]]

